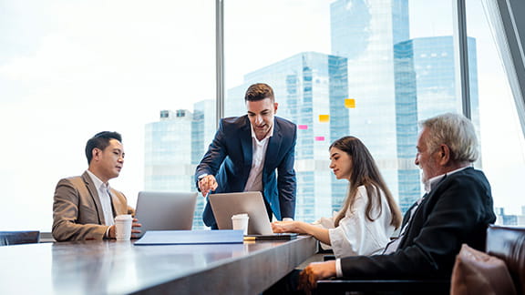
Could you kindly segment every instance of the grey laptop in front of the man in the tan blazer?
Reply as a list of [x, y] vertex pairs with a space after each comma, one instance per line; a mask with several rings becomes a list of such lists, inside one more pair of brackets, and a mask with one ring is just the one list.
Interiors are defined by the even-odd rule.
[[140, 191], [135, 217], [142, 225], [138, 237], [148, 230], [191, 229], [197, 192]]

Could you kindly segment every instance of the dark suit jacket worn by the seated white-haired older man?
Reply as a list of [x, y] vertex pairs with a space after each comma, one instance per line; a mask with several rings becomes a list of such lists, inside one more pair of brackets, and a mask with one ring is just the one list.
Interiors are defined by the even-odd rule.
[[461, 244], [484, 250], [487, 226], [495, 220], [489, 181], [465, 168], [432, 188], [396, 252], [341, 259], [341, 268], [349, 278], [447, 278]]

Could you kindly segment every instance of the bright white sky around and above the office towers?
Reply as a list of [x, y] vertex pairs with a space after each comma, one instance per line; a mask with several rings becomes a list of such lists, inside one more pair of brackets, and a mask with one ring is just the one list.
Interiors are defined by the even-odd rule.
[[[332, 1], [224, 2], [226, 89], [299, 52], [330, 53]], [[518, 214], [523, 204], [511, 188], [525, 176], [525, 144], [482, 7], [469, 3], [476, 4], [468, 7], [476, 24], [468, 30], [479, 50], [483, 168], [496, 205]], [[49, 230], [57, 180], [87, 168], [85, 143], [100, 130], [123, 135], [126, 164], [111, 185], [134, 203], [144, 125], [161, 109], [191, 109], [215, 97], [214, 9], [212, 0], [0, 0], [3, 224], [19, 219], [11, 208], [25, 208]], [[451, 34], [451, 2], [412, 0], [410, 9], [412, 37]]]

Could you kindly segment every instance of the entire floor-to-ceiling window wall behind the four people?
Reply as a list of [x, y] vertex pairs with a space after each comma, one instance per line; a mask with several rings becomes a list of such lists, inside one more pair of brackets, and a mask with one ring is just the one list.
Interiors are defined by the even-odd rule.
[[[525, 140], [481, 0], [467, 1], [471, 115], [501, 224], [524, 224], [510, 190]], [[296, 219], [340, 209], [347, 182], [328, 168], [345, 135], [371, 150], [402, 209], [422, 195], [417, 121], [461, 112], [454, 2], [223, 0], [224, 114], [266, 82], [277, 116], [298, 125]], [[49, 231], [57, 180], [87, 168], [88, 137], [123, 135], [110, 184], [195, 190], [216, 128], [215, 1], [4, 1], [0, 17], [3, 229]], [[485, 7], [487, 9], [487, 7]], [[203, 198], [194, 228], [203, 228]]]

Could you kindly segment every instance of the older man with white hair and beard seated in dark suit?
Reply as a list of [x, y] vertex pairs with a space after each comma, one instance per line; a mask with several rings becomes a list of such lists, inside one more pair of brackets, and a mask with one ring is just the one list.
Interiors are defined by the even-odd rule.
[[472, 123], [445, 114], [421, 123], [416, 165], [427, 193], [407, 211], [399, 239], [385, 255], [313, 263], [301, 273], [304, 289], [329, 277], [354, 279], [448, 278], [462, 243], [483, 250], [496, 220], [489, 181], [471, 167], [478, 158]]

